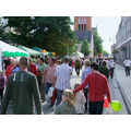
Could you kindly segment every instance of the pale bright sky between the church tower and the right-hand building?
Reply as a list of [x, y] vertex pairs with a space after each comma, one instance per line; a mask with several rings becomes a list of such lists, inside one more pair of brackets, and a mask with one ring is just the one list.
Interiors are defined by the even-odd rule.
[[[73, 17], [71, 17], [74, 21]], [[103, 48], [111, 53], [111, 45], [116, 43], [116, 34], [119, 27], [121, 17], [120, 16], [93, 16], [92, 17], [92, 27], [97, 26], [97, 32], [102, 37]], [[74, 29], [74, 27], [71, 27]]]

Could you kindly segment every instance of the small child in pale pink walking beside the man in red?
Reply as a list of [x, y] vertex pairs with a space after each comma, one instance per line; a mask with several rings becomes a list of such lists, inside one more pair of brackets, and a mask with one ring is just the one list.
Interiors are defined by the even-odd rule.
[[[76, 83], [74, 85], [74, 88], [76, 88], [78, 86], [80, 86], [80, 83]], [[78, 115], [83, 115], [84, 114], [85, 103], [86, 103], [86, 98], [85, 98], [83, 90], [82, 90], [82, 91], [80, 91], [75, 94], [75, 109], [76, 109]]]

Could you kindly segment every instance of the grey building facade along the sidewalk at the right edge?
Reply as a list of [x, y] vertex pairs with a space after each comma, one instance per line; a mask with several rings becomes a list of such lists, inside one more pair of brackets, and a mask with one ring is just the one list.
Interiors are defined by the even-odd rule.
[[131, 16], [121, 17], [114, 48], [118, 63], [123, 64], [126, 59], [131, 59]]

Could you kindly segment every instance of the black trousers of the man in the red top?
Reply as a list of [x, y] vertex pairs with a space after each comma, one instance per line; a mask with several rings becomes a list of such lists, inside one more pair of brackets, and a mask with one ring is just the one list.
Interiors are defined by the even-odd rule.
[[90, 102], [90, 115], [102, 115], [104, 102]]

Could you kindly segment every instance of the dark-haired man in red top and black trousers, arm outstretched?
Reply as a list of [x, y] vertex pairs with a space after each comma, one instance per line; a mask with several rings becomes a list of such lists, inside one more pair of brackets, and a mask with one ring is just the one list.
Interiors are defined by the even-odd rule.
[[96, 62], [91, 64], [91, 70], [92, 73], [73, 92], [76, 93], [88, 84], [90, 115], [102, 115], [105, 95], [110, 103], [109, 87], [106, 76], [98, 72], [98, 64]]

